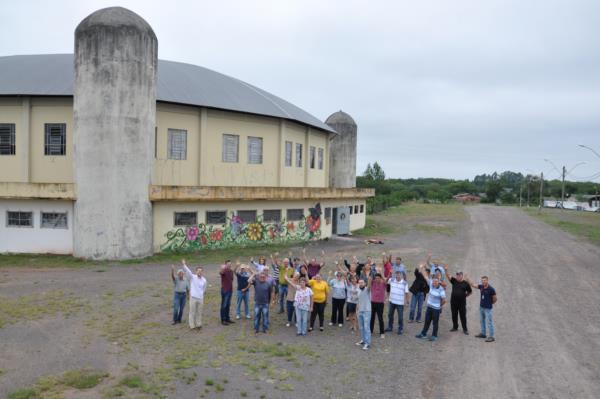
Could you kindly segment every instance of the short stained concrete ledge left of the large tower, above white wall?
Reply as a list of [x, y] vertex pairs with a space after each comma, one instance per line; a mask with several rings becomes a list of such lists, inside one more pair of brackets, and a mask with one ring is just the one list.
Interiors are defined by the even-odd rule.
[[73, 183], [1, 183], [0, 198], [75, 200]]

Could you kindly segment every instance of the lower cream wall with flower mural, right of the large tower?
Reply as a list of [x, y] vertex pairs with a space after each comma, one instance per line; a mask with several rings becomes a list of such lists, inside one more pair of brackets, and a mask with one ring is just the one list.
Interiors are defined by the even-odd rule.
[[[263, 243], [284, 242], [288, 240], [310, 240], [316, 238], [331, 237], [331, 220], [325, 218], [326, 207], [337, 206], [354, 206], [363, 205], [363, 213], [352, 214], [350, 216], [350, 229], [358, 230], [365, 225], [365, 201], [364, 200], [340, 200], [340, 201], [323, 201], [321, 205], [321, 215], [318, 223], [313, 223], [308, 217], [311, 214], [311, 208], [314, 209], [316, 203], [314, 201], [238, 201], [238, 202], [173, 202], [161, 201], [154, 202], [153, 217], [154, 217], [154, 250], [198, 250], [200, 248], [222, 248], [234, 245], [236, 242], [243, 245], [252, 244], [249, 237], [232, 240], [232, 222], [237, 211], [240, 210], [255, 210], [261, 228], [261, 238], [258, 240]], [[273, 223], [262, 222], [264, 210], [281, 209], [282, 221], [279, 226], [274, 226]], [[302, 209], [303, 220], [292, 222], [293, 226], [289, 226], [290, 221], [286, 220], [288, 209]], [[209, 225], [203, 226], [206, 223], [207, 211], [225, 211], [227, 221], [224, 225]], [[175, 212], [196, 212], [197, 224], [199, 231], [191, 231], [189, 227], [178, 227], [174, 225]], [[244, 224], [244, 228], [248, 227]], [[308, 226], [308, 227], [307, 227]], [[311, 228], [312, 227], [312, 230]], [[205, 234], [203, 234], [203, 232]], [[191, 234], [191, 236], [190, 236]], [[202, 235], [205, 239], [202, 239]], [[242, 234], [243, 235], [243, 234]], [[194, 238], [193, 240], [190, 240]], [[229, 240], [229, 241], [228, 241]], [[190, 244], [190, 241], [192, 243]], [[204, 241], [204, 242], [203, 242]], [[233, 242], [235, 241], [235, 242]]]

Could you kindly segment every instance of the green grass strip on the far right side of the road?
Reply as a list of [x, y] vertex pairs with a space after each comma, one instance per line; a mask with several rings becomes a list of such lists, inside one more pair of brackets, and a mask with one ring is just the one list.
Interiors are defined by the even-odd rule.
[[593, 244], [600, 245], [600, 213], [578, 212], [562, 209], [544, 208], [538, 213], [534, 208], [523, 208], [529, 215], [558, 227], [568, 233], [585, 238]]

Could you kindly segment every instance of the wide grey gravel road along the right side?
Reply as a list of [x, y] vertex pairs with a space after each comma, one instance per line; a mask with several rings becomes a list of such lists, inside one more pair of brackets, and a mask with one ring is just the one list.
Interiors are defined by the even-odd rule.
[[[443, 356], [452, 364], [444, 380], [453, 389], [436, 386], [431, 396], [600, 397], [600, 249], [515, 208], [468, 212], [464, 269], [490, 276], [498, 293], [497, 341], [464, 345], [462, 336], [444, 332]], [[476, 299], [469, 303], [472, 332]]]

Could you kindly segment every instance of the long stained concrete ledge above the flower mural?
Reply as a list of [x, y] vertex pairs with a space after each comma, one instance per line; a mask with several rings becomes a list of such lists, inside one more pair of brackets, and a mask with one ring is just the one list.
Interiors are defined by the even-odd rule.
[[150, 201], [252, 201], [369, 198], [371, 188], [150, 186]]

